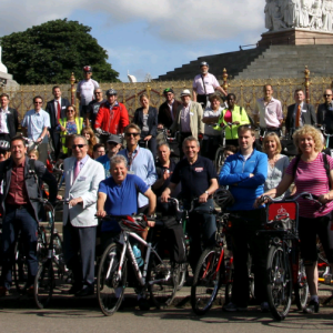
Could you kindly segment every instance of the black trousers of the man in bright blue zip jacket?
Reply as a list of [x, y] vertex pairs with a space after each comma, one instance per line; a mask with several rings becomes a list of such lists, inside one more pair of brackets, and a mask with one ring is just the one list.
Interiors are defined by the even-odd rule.
[[232, 284], [232, 302], [240, 307], [249, 304], [249, 251], [252, 255], [254, 273], [254, 293], [258, 303], [266, 302], [266, 258], [269, 252], [268, 241], [256, 236], [256, 231], [262, 229], [263, 210], [238, 211], [240, 218], [232, 218], [230, 230], [232, 238], [234, 279]]

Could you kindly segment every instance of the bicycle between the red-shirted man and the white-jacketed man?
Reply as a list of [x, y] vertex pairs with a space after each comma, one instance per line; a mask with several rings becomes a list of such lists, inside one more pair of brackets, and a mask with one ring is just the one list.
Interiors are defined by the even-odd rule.
[[[68, 200], [60, 200], [53, 206], [48, 200], [34, 199], [40, 201], [48, 209], [48, 218], [50, 225], [50, 240], [48, 244], [47, 255], [41, 260], [38, 273], [33, 283], [33, 300], [38, 309], [44, 309], [51, 302], [53, 290], [58, 286], [60, 279], [63, 278], [67, 272], [65, 265], [62, 259], [62, 245], [61, 239], [58, 233], [54, 232], [54, 216], [56, 209], [60, 204], [68, 204]], [[58, 280], [54, 276], [54, 268], [58, 269]]]

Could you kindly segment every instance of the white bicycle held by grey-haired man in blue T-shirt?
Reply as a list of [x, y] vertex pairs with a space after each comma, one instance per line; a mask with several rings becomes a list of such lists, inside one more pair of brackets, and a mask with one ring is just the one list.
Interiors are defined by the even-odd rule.
[[[161, 259], [152, 243], [137, 234], [148, 225], [145, 215], [107, 215], [102, 219], [115, 220], [121, 228], [119, 238], [104, 250], [98, 270], [97, 295], [102, 313], [112, 315], [121, 305], [127, 287], [128, 264], [132, 265], [139, 283], [137, 292], [149, 292], [158, 309], [170, 305], [176, 293], [176, 270], [173, 270], [170, 261]], [[159, 224], [159, 221], [155, 223]], [[130, 238], [147, 250], [142, 270], [138, 265]]]

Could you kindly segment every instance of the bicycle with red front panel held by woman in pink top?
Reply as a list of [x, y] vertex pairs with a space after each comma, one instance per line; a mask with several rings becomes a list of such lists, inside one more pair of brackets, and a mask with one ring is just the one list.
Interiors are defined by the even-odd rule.
[[270, 239], [266, 291], [271, 312], [278, 321], [284, 320], [290, 311], [292, 290], [299, 310], [305, 309], [309, 295], [305, 266], [300, 260], [299, 249], [296, 200], [300, 196], [316, 201], [315, 195], [306, 192], [285, 201], [276, 201], [268, 195], [262, 198], [262, 202], [271, 203], [266, 205], [265, 230], [260, 230], [258, 234]]

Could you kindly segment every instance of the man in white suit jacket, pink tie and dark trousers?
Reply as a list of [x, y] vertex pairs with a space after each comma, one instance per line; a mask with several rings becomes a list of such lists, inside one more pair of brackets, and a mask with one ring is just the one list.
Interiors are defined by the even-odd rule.
[[88, 296], [93, 294], [98, 189], [105, 173], [103, 165], [87, 154], [84, 137], [74, 137], [72, 151], [73, 157], [63, 163], [64, 198], [70, 200], [63, 208], [64, 259], [74, 280], [69, 293]]

